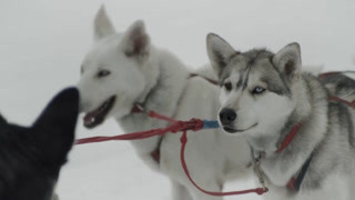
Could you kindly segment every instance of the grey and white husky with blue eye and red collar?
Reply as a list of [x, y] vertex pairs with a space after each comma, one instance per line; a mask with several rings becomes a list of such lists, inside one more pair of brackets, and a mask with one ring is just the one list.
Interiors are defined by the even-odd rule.
[[[329, 100], [318, 78], [301, 72], [297, 43], [277, 53], [239, 52], [211, 33], [207, 53], [223, 88], [219, 121], [254, 150], [270, 188], [265, 199], [354, 199], [354, 108]], [[324, 83], [332, 93], [354, 97], [354, 80], [343, 78]], [[339, 79], [349, 87], [339, 87]], [[291, 132], [296, 134], [285, 144]]]

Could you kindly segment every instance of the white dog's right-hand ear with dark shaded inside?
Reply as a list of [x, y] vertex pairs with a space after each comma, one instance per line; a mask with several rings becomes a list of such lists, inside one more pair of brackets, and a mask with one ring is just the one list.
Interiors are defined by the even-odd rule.
[[128, 57], [141, 59], [149, 54], [150, 38], [142, 20], [133, 22], [128, 29], [122, 40], [122, 47]]

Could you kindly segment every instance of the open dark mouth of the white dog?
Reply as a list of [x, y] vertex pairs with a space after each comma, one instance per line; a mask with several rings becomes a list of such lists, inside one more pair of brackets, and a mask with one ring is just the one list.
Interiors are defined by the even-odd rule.
[[84, 117], [84, 127], [91, 129], [102, 123], [105, 116], [112, 109], [115, 101], [115, 96], [111, 97], [106, 101], [104, 101], [99, 108], [95, 110], [88, 112]]

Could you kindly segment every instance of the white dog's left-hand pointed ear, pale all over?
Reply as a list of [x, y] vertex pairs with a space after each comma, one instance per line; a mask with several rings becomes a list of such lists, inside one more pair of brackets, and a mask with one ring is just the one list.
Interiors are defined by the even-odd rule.
[[102, 4], [94, 19], [94, 39], [99, 40], [113, 34], [114, 32], [114, 28], [106, 14], [104, 6]]

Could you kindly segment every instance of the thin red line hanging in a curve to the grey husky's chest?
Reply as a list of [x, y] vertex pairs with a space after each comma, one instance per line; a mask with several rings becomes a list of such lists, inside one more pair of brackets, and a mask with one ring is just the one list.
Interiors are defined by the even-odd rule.
[[207, 191], [204, 190], [203, 188], [201, 188], [199, 184], [195, 183], [195, 181], [192, 179], [189, 169], [187, 169], [187, 164], [185, 161], [185, 148], [186, 148], [186, 143], [187, 143], [187, 136], [186, 136], [186, 131], [184, 131], [180, 138], [181, 141], [181, 151], [180, 151], [180, 160], [181, 160], [181, 164], [182, 168], [185, 171], [185, 174], [187, 176], [189, 180], [191, 181], [191, 183], [197, 188], [200, 191], [202, 191], [203, 193], [210, 194], [210, 196], [237, 196], [237, 194], [246, 194], [246, 193], [257, 193], [257, 194], [263, 194], [265, 192], [268, 191], [267, 188], [255, 188], [255, 189], [250, 189], [250, 190], [241, 190], [241, 191], [231, 191], [231, 192], [214, 192], [214, 191]]

